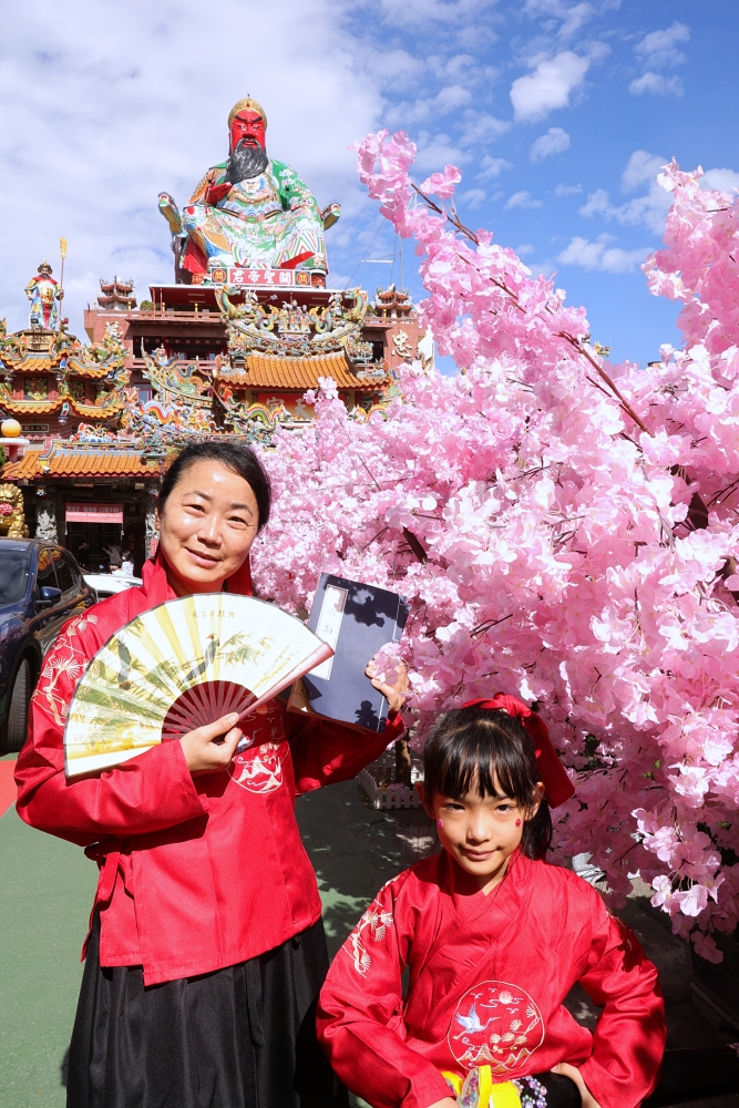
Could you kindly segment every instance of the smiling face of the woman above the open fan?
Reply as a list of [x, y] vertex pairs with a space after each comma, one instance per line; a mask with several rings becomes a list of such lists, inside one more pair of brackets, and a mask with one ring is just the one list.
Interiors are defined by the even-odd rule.
[[157, 511], [167, 577], [177, 596], [218, 592], [244, 564], [258, 522], [252, 485], [238, 473], [206, 459], [186, 469]]

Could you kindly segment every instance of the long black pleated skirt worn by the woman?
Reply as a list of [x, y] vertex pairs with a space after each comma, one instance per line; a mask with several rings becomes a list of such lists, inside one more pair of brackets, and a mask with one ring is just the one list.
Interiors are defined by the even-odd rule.
[[144, 986], [101, 967], [94, 921], [68, 1108], [347, 1108], [316, 1039], [328, 971], [324, 924], [215, 973]]

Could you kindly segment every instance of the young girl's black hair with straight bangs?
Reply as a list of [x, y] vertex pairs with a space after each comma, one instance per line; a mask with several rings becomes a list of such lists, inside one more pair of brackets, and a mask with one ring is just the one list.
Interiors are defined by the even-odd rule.
[[[434, 796], [462, 800], [475, 792], [505, 796], [531, 812], [540, 780], [534, 743], [521, 720], [502, 709], [456, 708], [431, 728], [423, 750], [423, 780], [429, 803]], [[526, 858], [541, 858], [551, 842], [552, 815], [542, 800], [533, 819], [524, 822], [521, 850]]]

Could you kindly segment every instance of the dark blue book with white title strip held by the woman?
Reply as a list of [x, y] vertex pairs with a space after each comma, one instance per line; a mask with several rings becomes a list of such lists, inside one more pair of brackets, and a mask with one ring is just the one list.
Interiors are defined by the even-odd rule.
[[400, 640], [407, 620], [404, 596], [322, 573], [308, 626], [335, 654], [296, 683], [289, 708], [384, 731], [388, 701], [365, 669], [380, 647]]

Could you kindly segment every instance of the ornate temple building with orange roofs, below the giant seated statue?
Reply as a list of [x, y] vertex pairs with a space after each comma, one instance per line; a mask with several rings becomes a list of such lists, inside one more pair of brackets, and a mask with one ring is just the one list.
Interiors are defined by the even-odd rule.
[[305, 393], [327, 378], [366, 420], [396, 393], [399, 366], [431, 357], [392, 286], [370, 301], [360, 289], [174, 283], [136, 306], [130, 283], [101, 281], [84, 327], [88, 342], [0, 328], [0, 416], [28, 440], [2, 471], [0, 533], [12, 509], [31, 535], [74, 554], [86, 542], [93, 565], [122, 545], [136, 571], [154, 537], [153, 490], [191, 437], [268, 444], [278, 424], [306, 425]]

